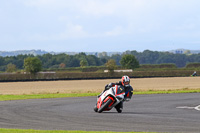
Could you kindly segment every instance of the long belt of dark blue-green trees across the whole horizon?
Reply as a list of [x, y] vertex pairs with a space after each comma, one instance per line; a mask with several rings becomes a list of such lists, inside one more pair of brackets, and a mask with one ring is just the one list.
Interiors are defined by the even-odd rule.
[[[115, 54], [107, 56], [106, 52], [97, 57], [95, 55], [86, 55], [85, 53], [79, 53], [76, 55], [67, 54], [44, 54], [44, 55], [18, 55], [0, 57], [0, 71], [6, 71], [10, 69], [24, 69], [24, 61], [28, 57], [37, 57], [41, 61], [43, 69], [49, 68], [66, 68], [66, 67], [83, 67], [83, 66], [103, 66], [108, 63], [109, 60], [114, 60], [116, 65], [126, 65], [124, 60], [130, 60], [129, 57], [122, 57], [124, 55], [133, 55], [131, 57], [135, 59], [133, 64], [163, 64], [173, 63], [177, 67], [185, 67], [187, 63], [200, 62], [200, 54], [173, 54], [169, 52], [158, 52], [145, 50], [143, 52], [137, 51], [125, 51], [122, 55]], [[136, 60], [136, 61], [135, 61]], [[138, 62], [137, 62], [138, 61]], [[130, 62], [131, 63], [131, 62]], [[136, 65], [136, 66], [137, 66]], [[127, 67], [127, 66], [126, 66]]]

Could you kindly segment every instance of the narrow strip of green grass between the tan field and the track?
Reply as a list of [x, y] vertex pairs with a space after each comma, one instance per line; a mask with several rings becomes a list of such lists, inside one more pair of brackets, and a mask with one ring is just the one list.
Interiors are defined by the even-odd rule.
[[[167, 91], [133, 91], [133, 95], [139, 94], [170, 94], [170, 93], [200, 93], [200, 89], [179, 89]], [[86, 97], [97, 96], [99, 93], [67, 93], [67, 94], [31, 94], [31, 95], [0, 95], [0, 101], [24, 100], [24, 99], [43, 99], [43, 98], [63, 98], [63, 97]]]

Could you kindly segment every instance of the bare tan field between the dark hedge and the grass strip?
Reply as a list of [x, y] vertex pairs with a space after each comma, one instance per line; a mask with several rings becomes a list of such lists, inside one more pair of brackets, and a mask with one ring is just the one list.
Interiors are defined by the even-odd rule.
[[[120, 79], [65, 80], [39, 82], [2, 82], [0, 94], [43, 94], [43, 93], [88, 93], [101, 92], [104, 86]], [[131, 79], [134, 90], [198, 89], [200, 77], [135, 78]]]

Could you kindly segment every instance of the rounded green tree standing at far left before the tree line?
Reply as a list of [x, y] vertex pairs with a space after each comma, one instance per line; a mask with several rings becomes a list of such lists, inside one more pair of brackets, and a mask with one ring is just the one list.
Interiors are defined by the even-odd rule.
[[24, 59], [24, 69], [26, 72], [36, 74], [42, 70], [42, 62], [37, 57], [28, 57]]

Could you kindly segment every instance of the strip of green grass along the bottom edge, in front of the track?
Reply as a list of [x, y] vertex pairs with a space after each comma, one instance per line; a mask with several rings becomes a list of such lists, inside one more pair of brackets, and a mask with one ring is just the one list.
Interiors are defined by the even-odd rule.
[[[65, 131], [65, 130], [32, 130], [32, 129], [4, 129], [0, 133], [116, 133], [109, 131]], [[117, 133], [155, 133], [155, 132], [117, 132]]]

